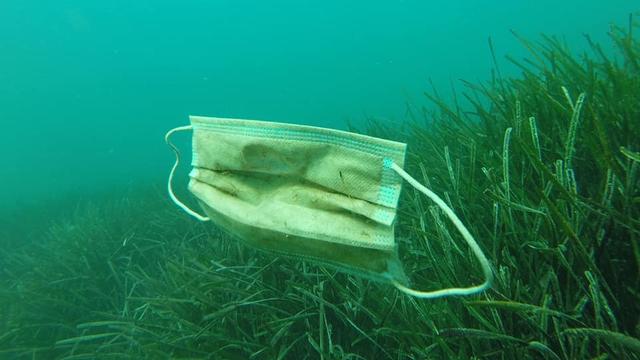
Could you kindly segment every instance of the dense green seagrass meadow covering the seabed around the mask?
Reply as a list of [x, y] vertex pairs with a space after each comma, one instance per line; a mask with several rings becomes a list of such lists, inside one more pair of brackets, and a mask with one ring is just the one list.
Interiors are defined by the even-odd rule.
[[[489, 291], [419, 300], [256, 252], [150, 185], [6, 220], [54, 219], [0, 230], [0, 358], [640, 358], [637, 30], [630, 19], [578, 56], [521, 39], [519, 76], [496, 66], [451, 101], [430, 91], [402, 127], [362, 131], [409, 144], [408, 171], [489, 256]], [[416, 287], [481, 281], [411, 188], [396, 234]]]

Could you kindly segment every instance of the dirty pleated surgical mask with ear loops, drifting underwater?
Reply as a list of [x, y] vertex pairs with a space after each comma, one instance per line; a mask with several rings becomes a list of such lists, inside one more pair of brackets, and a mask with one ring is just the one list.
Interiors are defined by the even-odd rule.
[[[390, 282], [416, 297], [469, 295], [490, 286], [489, 262], [469, 231], [436, 194], [402, 169], [406, 144], [312, 126], [190, 120], [191, 125], [165, 136], [176, 154], [168, 191], [196, 219], [210, 220], [255, 248]], [[185, 130], [193, 131], [189, 190], [206, 216], [172, 190], [180, 153], [170, 137]], [[408, 287], [394, 238], [403, 179], [451, 219], [478, 258], [484, 283], [428, 292]]]

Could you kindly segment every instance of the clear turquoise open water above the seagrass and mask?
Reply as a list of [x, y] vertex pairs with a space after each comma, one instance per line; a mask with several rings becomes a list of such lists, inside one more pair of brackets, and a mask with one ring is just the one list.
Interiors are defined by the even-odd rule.
[[[403, 118], [431, 79], [503, 73], [536, 39], [604, 39], [631, 1], [12, 1], [0, 4], [0, 208], [159, 182], [188, 114], [345, 128]], [[186, 136], [182, 144], [186, 145]], [[185, 149], [186, 150], [186, 149]]]

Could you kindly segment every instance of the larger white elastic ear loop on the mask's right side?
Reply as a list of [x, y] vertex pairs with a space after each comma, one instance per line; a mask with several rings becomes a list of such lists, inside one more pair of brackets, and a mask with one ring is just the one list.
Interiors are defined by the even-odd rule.
[[398, 290], [406, 294], [409, 294], [411, 296], [415, 296], [418, 298], [423, 298], [423, 299], [435, 299], [435, 298], [440, 298], [445, 296], [472, 295], [472, 294], [482, 292], [488, 289], [489, 287], [491, 287], [491, 283], [493, 282], [493, 272], [491, 271], [491, 265], [489, 264], [487, 257], [484, 255], [484, 253], [480, 249], [480, 246], [478, 246], [478, 243], [476, 243], [473, 236], [471, 236], [471, 233], [469, 232], [469, 230], [467, 230], [464, 224], [462, 224], [462, 221], [460, 221], [460, 219], [456, 216], [453, 210], [451, 210], [451, 208], [447, 206], [447, 204], [444, 201], [442, 201], [442, 199], [440, 199], [438, 195], [436, 195], [431, 190], [427, 189], [425, 186], [420, 184], [416, 179], [411, 177], [411, 175], [405, 172], [397, 164], [392, 163], [391, 167], [393, 168], [393, 170], [395, 170], [395, 172], [398, 173], [398, 175], [400, 175], [409, 184], [411, 184], [411, 186], [413, 186], [418, 191], [425, 194], [429, 199], [433, 200], [433, 202], [435, 202], [442, 209], [442, 211], [444, 211], [444, 213], [449, 217], [449, 219], [451, 219], [451, 222], [453, 222], [453, 224], [458, 229], [460, 234], [462, 234], [462, 237], [467, 242], [467, 244], [469, 244], [469, 247], [473, 251], [478, 261], [480, 262], [480, 266], [482, 267], [482, 272], [484, 273], [484, 278], [485, 278], [484, 282], [480, 285], [466, 287], [466, 288], [449, 288], [449, 289], [442, 289], [442, 290], [436, 290], [436, 291], [418, 291], [418, 290], [410, 289], [398, 283], [397, 281], [392, 281], [393, 285], [396, 288], [398, 288]]

